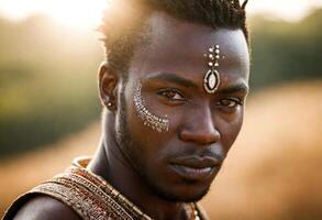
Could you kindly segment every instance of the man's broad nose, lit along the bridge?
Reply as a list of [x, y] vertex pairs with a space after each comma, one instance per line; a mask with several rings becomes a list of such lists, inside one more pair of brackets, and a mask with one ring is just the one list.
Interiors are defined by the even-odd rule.
[[186, 116], [179, 139], [185, 142], [195, 142], [200, 145], [209, 145], [220, 141], [220, 132], [215, 128], [212, 113], [209, 108]]

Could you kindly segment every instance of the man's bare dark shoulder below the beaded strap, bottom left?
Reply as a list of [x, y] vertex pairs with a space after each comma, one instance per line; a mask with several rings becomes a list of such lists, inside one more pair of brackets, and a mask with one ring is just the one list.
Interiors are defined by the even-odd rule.
[[48, 196], [30, 199], [15, 215], [14, 220], [80, 220], [73, 209]]

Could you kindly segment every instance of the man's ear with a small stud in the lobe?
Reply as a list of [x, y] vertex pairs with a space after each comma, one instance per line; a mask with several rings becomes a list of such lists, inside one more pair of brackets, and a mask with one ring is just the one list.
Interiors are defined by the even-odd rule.
[[108, 64], [102, 63], [99, 68], [99, 94], [101, 103], [110, 111], [114, 111], [118, 107], [118, 81], [120, 76], [116, 69]]

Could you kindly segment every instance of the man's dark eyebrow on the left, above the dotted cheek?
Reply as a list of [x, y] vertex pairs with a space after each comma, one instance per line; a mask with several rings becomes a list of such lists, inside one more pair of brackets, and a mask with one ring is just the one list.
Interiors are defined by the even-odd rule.
[[196, 89], [198, 88], [198, 86], [193, 81], [171, 73], [158, 73], [156, 75], [148, 76], [146, 79], [169, 81], [169, 82], [174, 82], [184, 87], [192, 87]]

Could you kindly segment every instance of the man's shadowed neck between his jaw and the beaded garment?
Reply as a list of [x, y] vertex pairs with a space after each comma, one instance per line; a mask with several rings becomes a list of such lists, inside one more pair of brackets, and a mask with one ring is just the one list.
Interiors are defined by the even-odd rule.
[[89, 169], [108, 180], [153, 219], [189, 219], [190, 207], [182, 202], [170, 202], [157, 197], [132, 168], [111, 136], [113, 135], [108, 134], [102, 138], [99, 150], [88, 166]]

